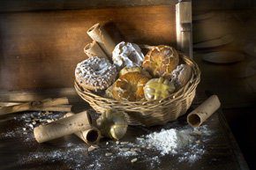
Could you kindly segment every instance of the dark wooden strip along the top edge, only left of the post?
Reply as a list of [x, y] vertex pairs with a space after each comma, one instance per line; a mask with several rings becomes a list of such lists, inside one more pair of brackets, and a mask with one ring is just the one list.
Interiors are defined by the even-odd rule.
[[131, 7], [147, 5], [169, 5], [177, 4], [177, 0], [2, 0], [0, 12], [4, 11], [42, 11], [42, 10], [78, 10], [109, 7]]

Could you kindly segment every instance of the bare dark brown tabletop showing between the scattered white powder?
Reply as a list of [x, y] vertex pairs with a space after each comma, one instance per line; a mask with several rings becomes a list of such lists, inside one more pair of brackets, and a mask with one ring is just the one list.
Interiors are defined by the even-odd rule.
[[[195, 107], [196, 106], [194, 105], [192, 106], [192, 108]], [[84, 107], [84, 109], [87, 108], [89, 107]], [[23, 116], [23, 114], [27, 113], [20, 113], [20, 115], [15, 116], [19, 118], [19, 116]], [[36, 113], [34, 115], [36, 115]], [[56, 113], [56, 115], [63, 116], [61, 113]], [[31, 137], [29, 135], [21, 137], [19, 136], [19, 138], [15, 136], [6, 137], [5, 134], [8, 133], [8, 131], [13, 129], [18, 131], [18, 129], [22, 129], [23, 126], [25, 126], [24, 122], [15, 121], [13, 116], [14, 115], [9, 115], [9, 117], [4, 119], [4, 121], [0, 122], [0, 133], [4, 134], [3, 136], [0, 136], [0, 155], [2, 156], [1, 158], [3, 158], [1, 159], [2, 162], [0, 162], [0, 165], [3, 169], [8, 169], [7, 167], [9, 167], [9, 169], [27, 169], [28, 167], [37, 169], [67, 169], [73, 167], [70, 161], [64, 161], [64, 159], [62, 159], [62, 161], [51, 159], [51, 161], [56, 161], [49, 163], [49, 159], [47, 159], [49, 154], [47, 153], [62, 150], [66, 154], [72, 152], [72, 148], [66, 147], [66, 144], [82, 144], [83, 141], [78, 140], [77, 137], [69, 136], [51, 141], [47, 144], [37, 144], [34, 139], [26, 142], [24, 141], [27, 137]], [[179, 157], [184, 154], [188, 154], [187, 148], [179, 150], [179, 152], [173, 157], [171, 155], [163, 157], [157, 150], [142, 150], [142, 152], [139, 152], [138, 155], [136, 155], [136, 158], [139, 158], [139, 161], [136, 164], [131, 164], [131, 157], [114, 157], [114, 159], [103, 159], [106, 158], [105, 153], [109, 152], [109, 146], [106, 145], [106, 141], [108, 141], [108, 139], [102, 139], [99, 144], [101, 148], [97, 152], [94, 152], [94, 155], [87, 153], [87, 151], [82, 153], [79, 152], [79, 154], [82, 154], [83, 156], [83, 161], [79, 162], [79, 164], [81, 164], [79, 168], [87, 169], [87, 165], [90, 165], [91, 162], [94, 163], [95, 160], [100, 159], [101, 165], [108, 165], [103, 166], [104, 169], [120, 169], [120, 167], [122, 167], [122, 169], [152, 169], [152, 166], [150, 165], [151, 159], [145, 159], [145, 157], [142, 157], [141, 155], [146, 155], [147, 157], [157, 155], [161, 161], [157, 167], [161, 169], [248, 170], [249, 168], [245, 162], [243, 154], [237, 146], [237, 142], [232, 136], [222, 112], [218, 110], [214, 115], [207, 119], [206, 122], [204, 122], [204, 125], [208, 130], [210, 130], [210, 135], [208, 135], [207, 138], [203, 137], [204, 134], [197, 136], [202, 139], [200, 143], [203, 145], [204, 153], [200, 155], [200, 159], [196, 159], [195, 161], [180, 162]], [[133, 141], [136, 140], [136, 137], [146, 135], [153, 131], [160, 131], [161, 129], [183, 129], [185, 126], [187, 126], [185, 116], [180, 117], [177, 122], [169, 122], [165, 126], [154, 126], [151, 128], [129, 126], [122, 141], [129, 141], [133, 143]], [[88, 145], [84, 145], [84, 147], [87, 149]], [[46, 159], [31, 157], [31, 154], [36, 154], [37, 152], [45, 153], [46, 156], [44, 158]], [[19, 155], [19, 157], [17, 155]], [[30, 159], [22, 159], [27, 157]], [[17, 161], [16, 158], [19, 158], [19, 161]], [[69, 158], [76, 159], [77, 157], [71, 154], [69, 155]], [[38, 166], [39, 164], [41, 166]], [[75, 166], [76, 165], [77, 164], [75, 164]]]

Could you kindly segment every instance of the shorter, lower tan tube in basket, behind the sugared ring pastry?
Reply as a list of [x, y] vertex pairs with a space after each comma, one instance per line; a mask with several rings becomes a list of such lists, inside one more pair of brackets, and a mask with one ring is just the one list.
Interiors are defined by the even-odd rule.
[[102, 48], [100, 48], [99, 44], [96, 41], [93, 41], [92, 43], [87, 44], [87, 46], [84, 48], [85, 53], [88, 57], [92, 56], [99, 56], [106, 59], [109, 59], [108, 56], [102, 51]]

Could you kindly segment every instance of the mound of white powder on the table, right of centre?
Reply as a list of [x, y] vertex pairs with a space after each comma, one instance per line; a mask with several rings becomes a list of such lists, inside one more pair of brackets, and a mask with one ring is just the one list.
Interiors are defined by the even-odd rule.
[[[163, 156], [176, 156], [179, 162], [195, 162], [206, 152], [204, 143], [213, 133], [207, 125], [192, 128], [188, 125], [182, 129], [162, 129], [142, 136], [140, 144], [147, 144], [161, 152]], [[180, 154], [182, 153], [182, 154]]]

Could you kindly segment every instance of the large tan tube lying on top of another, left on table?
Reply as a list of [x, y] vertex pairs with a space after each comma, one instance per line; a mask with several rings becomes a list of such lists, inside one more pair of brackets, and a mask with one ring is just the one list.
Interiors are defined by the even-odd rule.
[[92, 118], [87, 111], [85, 111], [36, 127], [34, 129], [34, 138], [38, 143], [43, 143], [78, 131], [91, 129], [91, 124]]

